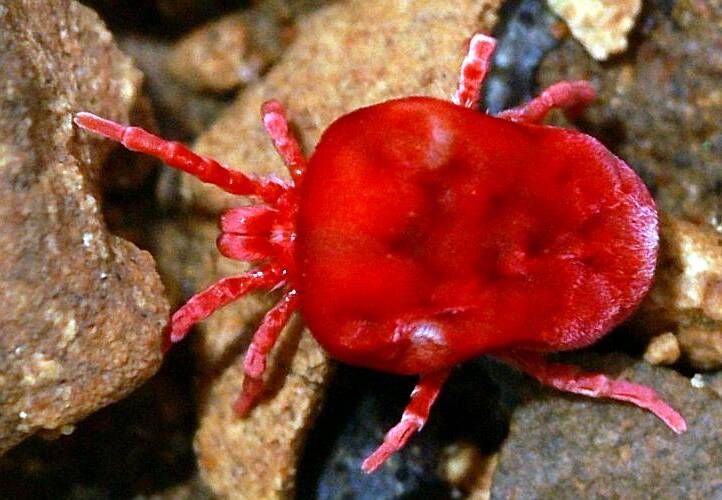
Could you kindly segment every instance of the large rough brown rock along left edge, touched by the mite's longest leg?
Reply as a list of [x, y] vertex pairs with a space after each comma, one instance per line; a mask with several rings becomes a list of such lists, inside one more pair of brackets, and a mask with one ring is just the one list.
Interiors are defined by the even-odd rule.
[[0, 5], [0, 452], [125, 396], [159, 367], [150, 255], [109, 234], [111, 148], [75, 111], [127, 120], [140, 74], [76, 2]]

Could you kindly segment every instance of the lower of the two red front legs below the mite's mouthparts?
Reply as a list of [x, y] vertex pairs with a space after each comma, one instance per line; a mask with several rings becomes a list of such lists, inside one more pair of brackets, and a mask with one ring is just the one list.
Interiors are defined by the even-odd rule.
[[268, 354], [296, 309], [298, 309], [298, 293], [296, 290], [291, 290], [266, 313], [261, 326], [253, 335], [243, 361], [245, 372], [243, 388], [233, 404], [233, 409], [238, 415], [247, 415], [263, 390], [263, 373], [266, 371]]

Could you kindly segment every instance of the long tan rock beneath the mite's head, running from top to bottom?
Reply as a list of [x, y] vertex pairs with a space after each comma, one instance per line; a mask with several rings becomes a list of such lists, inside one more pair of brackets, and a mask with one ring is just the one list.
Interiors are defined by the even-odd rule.
[[[310, 152], [323, 129], [352, 109], [404, 95], [448, 97], [470, 36], [492, 28], [498, 4], [353, 0], [321, 9], [299, 23], [284, 58], [262, 83], [239, 96], [200, 138], [197, 150], [248, 172], [285, 176], [259, 117], [266, 99], [277, 97], [288, 105]], [[239, 203], [188, 178], [183, 194], [211, 213]], [[203, 241], [203, 248], [212, 249], [216, 235], [198, 228], [189, 241]], [[195, 290], [248, 268], [220, 256], [202, 262], [202, 282]], [[270, 294], [249, 296], [201, 327], [201, 365], [207, 375], [195, 444], [201, 474], [221, 496], [291, 494], [298, 455], [328, 380], [326, 355], [307, 331], [291, 325], [270, 365], [270, 393], [248, 418], [233, 414], [231, 404], [242, 382], [240, 354], [273, 300]]]

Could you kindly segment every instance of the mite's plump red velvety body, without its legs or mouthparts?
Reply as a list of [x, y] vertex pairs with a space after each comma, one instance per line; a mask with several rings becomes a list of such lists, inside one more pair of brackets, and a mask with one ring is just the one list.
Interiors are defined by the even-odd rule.
[[328, 128], [296, 243], [318, 341], [349, 363], [423, 373], [597, 340], [650, 286], [657, 215], [587, 135], [413, 97]]

